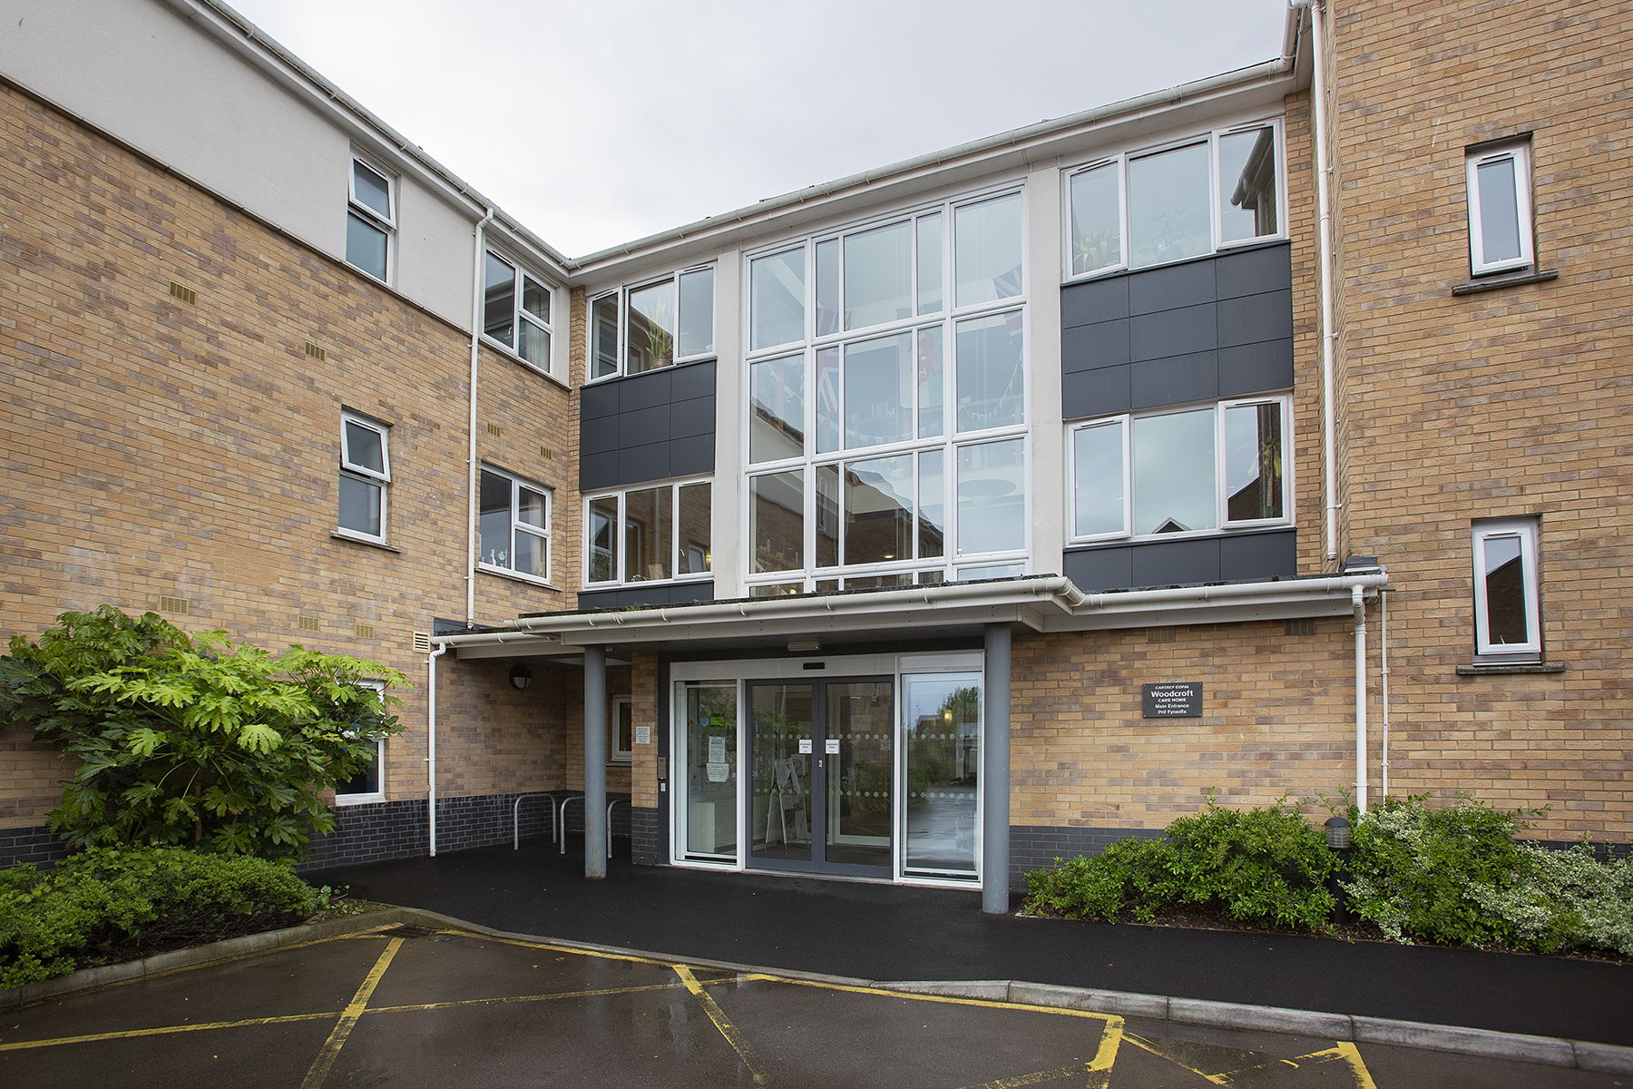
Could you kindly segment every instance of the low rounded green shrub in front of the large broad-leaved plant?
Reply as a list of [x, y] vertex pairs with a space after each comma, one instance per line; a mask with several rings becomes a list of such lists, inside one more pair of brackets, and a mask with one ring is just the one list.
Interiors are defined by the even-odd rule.
[[0, 873], [0, 988], [292, 926], [315, 906], [287, 865], [181, 847], [91, 847], [49, 873]]

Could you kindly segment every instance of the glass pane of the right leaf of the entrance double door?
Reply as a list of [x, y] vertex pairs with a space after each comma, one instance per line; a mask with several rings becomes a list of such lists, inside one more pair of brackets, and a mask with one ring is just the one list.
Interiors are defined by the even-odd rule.
[[839, 741], [839, 751], [823, 764], [828, 787], [823, 857], [828, 862], [890, 865], [895, 766], [890, 689], [887, 679], [825, 686], [825, 740]]

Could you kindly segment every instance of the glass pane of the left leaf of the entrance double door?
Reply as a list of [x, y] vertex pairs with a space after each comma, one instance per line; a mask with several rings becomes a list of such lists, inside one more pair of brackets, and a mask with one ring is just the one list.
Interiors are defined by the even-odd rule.
[[759, 859], [810, 862], [815, 823], [812, 686], [751, 684], [748, 700], [754, 761], [750, 852]]

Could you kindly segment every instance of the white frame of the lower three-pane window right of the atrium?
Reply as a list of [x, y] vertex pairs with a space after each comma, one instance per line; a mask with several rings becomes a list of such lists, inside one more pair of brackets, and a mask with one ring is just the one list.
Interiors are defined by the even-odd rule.
[[[1230, 408], [1251, 405], [1280, 405], [1282, 410], [1282, 518], [1254, 518], [1230, 521], [1230, 483], [1226, 475], [1225, 451], [1225, 413]], [[1181, 534], [1135, 534], [1133, 532], [1133, 424], [1137, 420], [1156, 416], [1172, 416], [1179, 413], [1213, 408], [1213, 529], [1194, 529]], [[1124, 442], [1124, 526], [1114, 532], [1078, 534], [1078, 480], [1076, 480], [1076, 434], [1089, 428], [1109, 423], [1122, 424]], [[1220, 534], [1243, 529], [1266, 529], [1293, 524], [1293, 407], [1290, 393], [1261, 393], [1257, 397], [1233, 397], [1217, 402], [1194, 402], [1189, 405], [1163, 405], [1146, 411], [1119, 413], [1115, 416], [1096, 416], [1066, 424], [1066, 544], [1101, 544], [1106, 540], [1177, 540], [1184, 537], [1217, 537]]]

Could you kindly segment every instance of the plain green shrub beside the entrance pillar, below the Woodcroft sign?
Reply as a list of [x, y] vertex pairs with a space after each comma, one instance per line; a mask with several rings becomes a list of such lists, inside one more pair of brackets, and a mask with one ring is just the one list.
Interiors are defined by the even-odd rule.
[[1217, 906], [1243, 922], [1324, 929], [1334, 906], [1326, 880], [1336, 865], [1326, 836], [1285, 798], [1230, 810], [1210, 797], [1163, 839], [1122, 839], [1097, 856], [1057, 859], [1057, 869], [1029, 873], [1027, 906], [1106, 922]]

